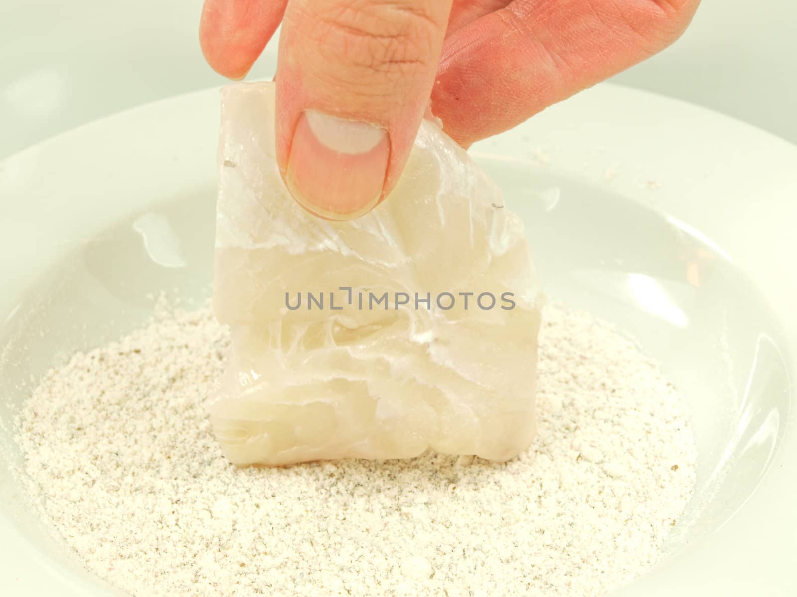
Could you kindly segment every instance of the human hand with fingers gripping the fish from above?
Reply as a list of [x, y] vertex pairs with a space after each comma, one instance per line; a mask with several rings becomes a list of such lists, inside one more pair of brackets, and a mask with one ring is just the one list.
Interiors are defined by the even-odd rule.
[[349, 220], [401, 174], [430, 107], [469, 146], [650, 57], [700, 0], [206, 0], [210, 65], [245, 76], [283, 22], [277, 162], [296, 201]]

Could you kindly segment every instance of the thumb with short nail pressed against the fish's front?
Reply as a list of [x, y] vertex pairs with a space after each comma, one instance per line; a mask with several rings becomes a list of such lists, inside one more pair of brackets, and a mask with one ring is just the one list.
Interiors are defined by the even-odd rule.
[[277, 161], [330, 220], [391, 191], [429, 103], [452, 0], [290, 0], [277, 67]]

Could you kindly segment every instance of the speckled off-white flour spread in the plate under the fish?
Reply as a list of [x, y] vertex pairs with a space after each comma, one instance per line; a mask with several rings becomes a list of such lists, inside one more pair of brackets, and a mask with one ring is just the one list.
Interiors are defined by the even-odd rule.
[[174, 314], [49, 372], [19, 416], [33, 499], [133, 595], [602, 595], [692, 493], [684, 401], [587, 314], [545, 310], [539, 438], [505, 463], [231, 466], [205, 412], [228, 342]]

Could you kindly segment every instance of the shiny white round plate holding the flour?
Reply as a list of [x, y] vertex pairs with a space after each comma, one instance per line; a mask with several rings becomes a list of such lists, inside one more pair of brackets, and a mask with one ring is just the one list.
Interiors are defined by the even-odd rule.
[[[10, 594], [108, 594], [6, 472], [2, 461], [20, 457], [10, 419], [31, 376], [143, 322], [148, 291], [206, 296], [217, 127], [218, 92], [197, 92], [0, 164], [0, 578]], [[797, 148], [605, 84], [473, 154], [524, 217], [548, 293], [634, 334], [693, 408], [696, 497], [665, 561], [618, 595], [793, 594]]]

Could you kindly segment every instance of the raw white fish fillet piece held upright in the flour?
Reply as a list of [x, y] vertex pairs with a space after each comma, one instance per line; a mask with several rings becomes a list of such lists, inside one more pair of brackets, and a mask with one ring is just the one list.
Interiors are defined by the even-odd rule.
[[[536, 429], [543, 295], [520, 219], [428, 122], [382, 205], [349, 222], [312, 216], [277, 170], [274, 89], [222, 91], [214, 310], [232, 347], [210, 415], [226, 457], [284, 465], [523, 451]], [[368, 293], [384, 292], [387, 310], [367, 308]], [[467, 309], [460, 292], [474, 293]], [[483, 292], [493, 308], [477, 306]], [[298, 310], [286, 293], [291, 306], [301, 293]], [[395, 293], [410, 303], [395, 308]]]

